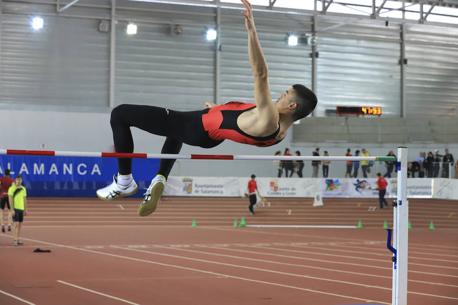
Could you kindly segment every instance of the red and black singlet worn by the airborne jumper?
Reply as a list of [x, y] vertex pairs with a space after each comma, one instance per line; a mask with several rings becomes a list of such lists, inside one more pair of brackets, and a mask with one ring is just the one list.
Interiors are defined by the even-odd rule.
[[237, 125], [240, 114], [256, 107], [253, 103], [228, 102], [223, 105], [209, 108], [207, 113], [202, 114], [202, 123], [205, 131], [213, 140], [232, 140], [239, 143], [267, 147], [279, 143], [275, 140], [280, 132], [280, 124], [273, 134], [266, 137], [255, 137], [243, 132]]

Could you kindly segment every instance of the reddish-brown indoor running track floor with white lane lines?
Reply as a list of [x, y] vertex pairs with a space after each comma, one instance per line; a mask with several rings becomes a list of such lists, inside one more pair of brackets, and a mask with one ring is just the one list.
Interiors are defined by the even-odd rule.
[[[373, 199], [165, 197], [151, 216], [138, 199], [30, 198], [24, 246], [0, 234], [0, 304], [390, 304], [391, 254]], [[456, 202], [409, 201], [408, 302], [458, 303]], [[247, 224], [362, 229], [235, 228]], [[192, 228], [195, 219], [197, 227]], [[430, 230], [433, 221], [435, 230]], [[33, 253], [36, 248], [51, 253]]]

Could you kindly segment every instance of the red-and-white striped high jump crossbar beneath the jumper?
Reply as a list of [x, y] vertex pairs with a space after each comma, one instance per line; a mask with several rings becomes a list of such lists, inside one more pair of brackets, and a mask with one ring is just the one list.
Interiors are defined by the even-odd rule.
[[[139, 158], [139, 159], [193, 159], [193, 160], [302, 160], [302, 161], [396, 161], [391, 157], [347, 157], [347, 156], [255, 156], [255, 155], [175, 155], [175, 154], [128, 154], [96, 153], [91, 151], [52, 151], [0, 149], [0, 155], [22, 156], [59, 156], [59, 157], [95, 157], [95, 158]], [[382, 160], [383, 159], [383, 160]]]

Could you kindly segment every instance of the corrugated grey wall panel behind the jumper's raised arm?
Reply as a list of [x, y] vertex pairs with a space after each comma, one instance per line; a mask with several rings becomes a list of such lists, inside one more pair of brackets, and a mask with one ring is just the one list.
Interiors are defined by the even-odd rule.
[[[240, 16], [239, 16], [240, 15]], [[257, 35], [269, 68], [272, 99], [293, 84], [311, 86], [311, 48], [289, 46], [287, 34], [310, 32], [310, 17], [255, 12]], [[254, 102], [254, 78], [248, 57], [248, 33], [238, 10], [221, 16], [221, 102]]]

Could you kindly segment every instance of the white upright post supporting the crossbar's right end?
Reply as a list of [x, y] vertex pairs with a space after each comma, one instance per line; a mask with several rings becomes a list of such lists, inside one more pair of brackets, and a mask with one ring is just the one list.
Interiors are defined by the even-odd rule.
[[407, 253], [409, 202], [407, 201], [407, 148], [397, 148], [397, 202], [393, 210], [393, 298], [392, 305], [407, 305]]

